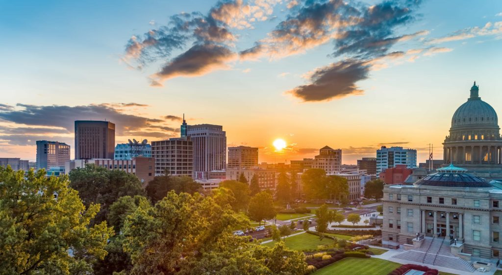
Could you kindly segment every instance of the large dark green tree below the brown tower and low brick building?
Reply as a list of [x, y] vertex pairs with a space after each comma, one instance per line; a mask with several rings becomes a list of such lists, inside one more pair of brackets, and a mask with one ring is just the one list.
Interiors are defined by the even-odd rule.
[[69, 173], [70, 187], [78, 191], [85, 206], [101, 205], [95, 222], [105, 220], [108, 208], [119, 197], [144, 195], [140, 179], [122, 170], [108, 170], [94, 164], [86, 164]]

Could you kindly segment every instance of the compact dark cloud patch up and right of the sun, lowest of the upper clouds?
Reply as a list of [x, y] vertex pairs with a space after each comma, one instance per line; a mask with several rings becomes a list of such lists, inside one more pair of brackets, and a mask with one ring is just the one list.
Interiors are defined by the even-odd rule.
[[368, 78], [370, 66], [359, 60], [345, 60], [317, 69], [310, 77], [310, 84], [302, 85], [287, 93], [306, 101], [323, 101], [347, 95], [360, 94], [356, 82]]

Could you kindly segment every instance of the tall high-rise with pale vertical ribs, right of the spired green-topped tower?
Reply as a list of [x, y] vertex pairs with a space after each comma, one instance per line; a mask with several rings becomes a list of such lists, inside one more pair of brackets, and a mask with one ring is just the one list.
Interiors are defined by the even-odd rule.
[[209, 171], [226, 168], [226, 133], [223, 126], [187, 125], [187, 136], [193, 141], [194, 178], [207, 179]]

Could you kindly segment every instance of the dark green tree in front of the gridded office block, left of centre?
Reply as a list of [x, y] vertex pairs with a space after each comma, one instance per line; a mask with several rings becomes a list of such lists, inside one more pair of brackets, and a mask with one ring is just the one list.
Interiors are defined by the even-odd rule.
[[188, 176], [179, 177], [166, 174], [154, 177], [145, 189], [147, 196], [155, 204], [171, 190], [177, 194], [181, 192], [193, 194], [200, 190], [200, 184]]

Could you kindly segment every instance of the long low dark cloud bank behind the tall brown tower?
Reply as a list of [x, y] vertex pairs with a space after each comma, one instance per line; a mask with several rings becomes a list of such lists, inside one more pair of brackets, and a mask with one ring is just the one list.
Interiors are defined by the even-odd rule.
[[117, 135], [124, 131], [139, 130], [163, 120], [130, 115], [107, 105], [87, 106], [35, 106], [18, 104], [22, 109], [0, 111], [0, 119], [33, 126], [61, 127], [73, 132], [75, 120], [107, 120], [115, 123]]

